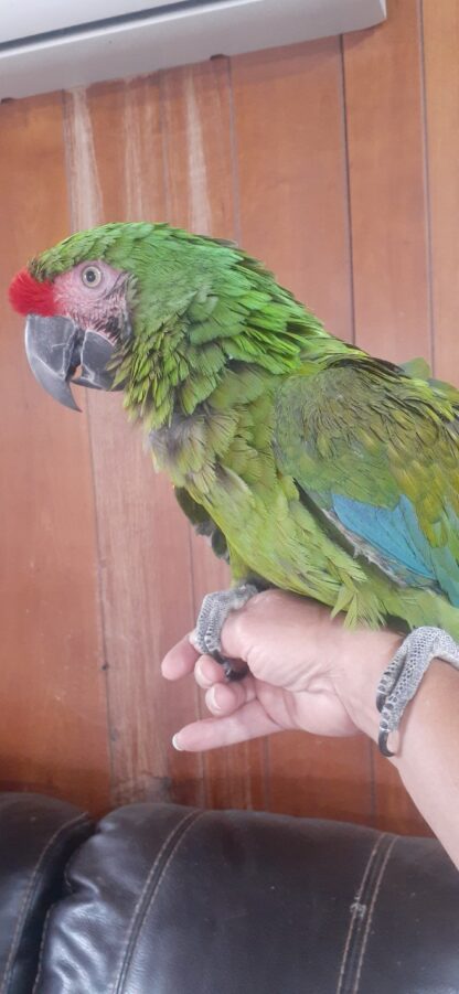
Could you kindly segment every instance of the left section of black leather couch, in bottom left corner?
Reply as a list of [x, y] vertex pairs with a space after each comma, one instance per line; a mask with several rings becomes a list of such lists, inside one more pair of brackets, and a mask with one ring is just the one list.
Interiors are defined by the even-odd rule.
[[67, 859], [90, 831], [72, 804], [0, 793], [1, 994], [31, 994], [46, 913], [62, 897]]

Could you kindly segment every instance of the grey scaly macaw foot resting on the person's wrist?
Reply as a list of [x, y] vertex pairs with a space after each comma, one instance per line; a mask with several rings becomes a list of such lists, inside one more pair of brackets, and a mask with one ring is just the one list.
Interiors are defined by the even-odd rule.
[[407, 635], [384, 671], [376, 696], [381, 712], [378, 746], [383, 756], [394, 755], [387, 747], [388, 736], [398, 728], [406, 705], [434, 659], [445, 660], [459, 670], [459, 645], [441, 628], [423, 626]]

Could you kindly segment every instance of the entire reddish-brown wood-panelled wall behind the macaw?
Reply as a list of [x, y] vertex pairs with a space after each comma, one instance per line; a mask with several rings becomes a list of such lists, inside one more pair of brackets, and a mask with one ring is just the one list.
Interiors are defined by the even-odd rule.
[[[168, 220], [236, 238], [340, 336], [455, 378], [458, 43], [452, 0], [389, 0], [387, 23], [343, 40], [0, 106], [2, 286], [70, 228]], [[120, 398], [56, 416], [6, 313], [0, 783], [93, 810], [172, 799], [426, 831], [364, 739], [174, 752], [202, 702], [160, 661], [226, 567]]]

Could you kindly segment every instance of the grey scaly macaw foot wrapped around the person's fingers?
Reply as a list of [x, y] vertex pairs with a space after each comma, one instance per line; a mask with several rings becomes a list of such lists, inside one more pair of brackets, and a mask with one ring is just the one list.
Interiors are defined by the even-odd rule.
[[231, 611], [237, 611], [250, 600], [258, 590], [254, 584], [243, 584], [231, 590], [217, 590], [215, 594], [206, 594], [198, 616], [196, 628], [193, 634], [195, 648], [207, 655], [212, 655], [220, 663], [227, 680], [242, 680], [247, 673], [247, 667], [234, 664], [222, 653], [222, 628]]

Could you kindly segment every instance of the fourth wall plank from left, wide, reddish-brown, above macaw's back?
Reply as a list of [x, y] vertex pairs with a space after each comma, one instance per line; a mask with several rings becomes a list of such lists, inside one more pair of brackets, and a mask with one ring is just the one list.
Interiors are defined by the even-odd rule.
[[[241, 56], [232, 79], [242, 244], [351, 339], [340, 42]], [[363, 739], [282, 734], [267, 749], [273, 810], [371, 819]]]

